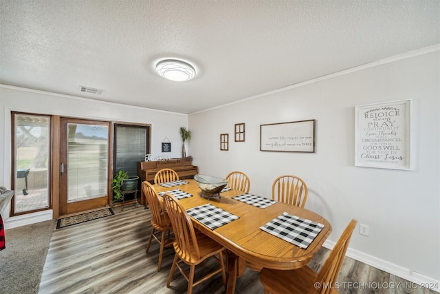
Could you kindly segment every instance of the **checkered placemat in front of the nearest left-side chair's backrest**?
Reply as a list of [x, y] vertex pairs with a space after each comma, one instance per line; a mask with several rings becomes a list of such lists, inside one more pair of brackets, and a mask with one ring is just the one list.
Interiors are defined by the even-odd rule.
[[209, 203], [198, 207], [192, 207], [186, 212], [192, 216], [192, 218], [195, 218], [212, 230], [223, 226], [223, 224], [228, 224], [229, 222], [232, 222], [232, 220], [239, 219], [238, 216]]

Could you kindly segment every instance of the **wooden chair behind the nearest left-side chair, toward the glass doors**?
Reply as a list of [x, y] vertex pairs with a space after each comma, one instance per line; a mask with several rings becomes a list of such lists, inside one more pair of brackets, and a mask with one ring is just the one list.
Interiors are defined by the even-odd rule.
[[[164, 248], [173, 245], [173, 239], [170, 238], [170, 230], [172, 229], [170, 219], [165, 211], [164, 202], [162, 197], [157, 194], [154, 187], [147, 181], [142, 182], [142, 190], [148, 202], [148, 206], [151, 211], [151, 229], [150, 239], [146, 245], [145, 253], [148, 253], [150, 249], [151, 240], [153, 238], [159, 242], [159, 262], [157, 263], [157, 271], [160, 271], [162, 265], [162, 256], [164, 254]], [[166, 238], [168, 235], [168, 238]]]

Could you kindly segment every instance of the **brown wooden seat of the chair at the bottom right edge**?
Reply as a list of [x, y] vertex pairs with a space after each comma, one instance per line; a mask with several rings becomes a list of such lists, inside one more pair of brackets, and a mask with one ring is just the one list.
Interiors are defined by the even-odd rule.
[[290, 271], [262, 269], [261, 284], [270, 292], [276, 293], [308, 293], [318, 273], [309, 266]]

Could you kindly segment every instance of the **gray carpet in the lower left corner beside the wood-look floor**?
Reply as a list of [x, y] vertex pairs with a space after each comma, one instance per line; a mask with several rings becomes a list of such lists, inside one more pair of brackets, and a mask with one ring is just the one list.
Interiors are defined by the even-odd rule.
[[6, 249], [0, 251], [0, 293], [39, 292], [41, 273], [56, 220], [5, 230]]

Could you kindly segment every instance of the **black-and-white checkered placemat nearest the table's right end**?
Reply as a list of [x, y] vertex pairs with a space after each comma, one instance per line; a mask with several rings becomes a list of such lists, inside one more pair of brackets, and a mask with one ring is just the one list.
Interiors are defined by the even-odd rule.
[[298, 216], [292, 216], [285, 212], [281, 216], [267, 222], [260, 229], [306, 249], [323, 227], [324, 224], [319, 222], [298, 218]]

